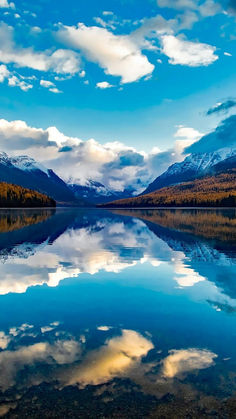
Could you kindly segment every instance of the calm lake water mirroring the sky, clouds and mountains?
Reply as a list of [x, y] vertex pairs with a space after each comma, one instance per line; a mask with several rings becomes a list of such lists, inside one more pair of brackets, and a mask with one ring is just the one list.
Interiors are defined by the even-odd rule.
[[0, 415], [235, 418], [235, 210], [0, 212]]

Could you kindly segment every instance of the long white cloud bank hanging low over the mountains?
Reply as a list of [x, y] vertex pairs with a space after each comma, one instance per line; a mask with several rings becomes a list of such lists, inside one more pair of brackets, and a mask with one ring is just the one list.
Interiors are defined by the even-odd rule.
[[[45, 82], [53, 89], [50, 82]], [[140, 193], [170, 164], [183, 160], [183, 150], [199, 135], [187, 127], [179, 127], [178, 131], [172, 148], [166, 151], [154, 148], [146, 153], [117, 141], [105, 144], [94, 139], [83, 141], [64, 135], [56, 127], [43, 130], [24, 121], [2, 119], [0, 150], [12, 156], [26, 154], [71, 183], [86, 185], [92, 179], [108, 189], [128, 188], [130, 193]]]

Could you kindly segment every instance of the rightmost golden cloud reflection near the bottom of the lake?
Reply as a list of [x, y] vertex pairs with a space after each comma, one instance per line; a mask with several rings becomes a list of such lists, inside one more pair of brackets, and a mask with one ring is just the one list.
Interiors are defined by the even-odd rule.
[[217, 355], [204, 349], [172, 350], [162, 361], [162, 375], [165, 378], [174, 378], [192, 371], [209, 368], [214, 364]]

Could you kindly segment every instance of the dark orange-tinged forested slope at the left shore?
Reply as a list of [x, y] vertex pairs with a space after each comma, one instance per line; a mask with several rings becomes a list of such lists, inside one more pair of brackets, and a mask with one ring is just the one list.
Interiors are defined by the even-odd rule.
[[56, 201], [45, 194], [41, 194], [22, 186], [0, 182], [0, 207], [55, 207]]

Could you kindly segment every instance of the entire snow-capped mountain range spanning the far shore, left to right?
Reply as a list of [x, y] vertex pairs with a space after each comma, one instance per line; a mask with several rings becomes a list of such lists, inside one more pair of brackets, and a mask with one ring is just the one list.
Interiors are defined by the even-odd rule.
[[[53, 170], [47, 169], [28, 156], [10, 157], [4, 152], [0, 153], [0, 182], [19, 185], [46, 194], [54, 199], [59, 206], [184, 205], [180, 197], [185, 194], [186, 198], [187, 189], [190, 194], [188, 205], [191, 206], [194, 205], [192, 198], [196, 195], [197, 190], [199, 192], [199, 188], [203, 190], [205, 188], [211, 194], [214, 192], [212, 183], [215, 183], [216, 186], [218, 182], [217, 188], [220, 193], [227, 189], [227, 196], [229, 196], [229, 191], [234, 192], [236, 172], [233, 169], [236, 169], [236, 148], [225, 147], [209, 153], [192, 153], [182, 162], [171, 165], [139, 196], [134, 197], [135, 191], [132, 185], [119, 192], [92, 179], [87, 180], [85, 184], [74, 180], [66, 182]], [[230, 178], [229, 171], [231, 172]], [[224, 173], [228, 177], [223, 176]], [[184, 193], [183, 190], [185, 190]], [[157, 191], [160, 191], [159, 195]], [[151, 196], [153, 193], [155, 196]], [[173, 198], [171, 202], [168, 198], [170, 195]], [[198, 205], [196, 201], [195, 204]], [[199, 200], [199, 205], [201, 204], [206, 205], [202, 198]]]

